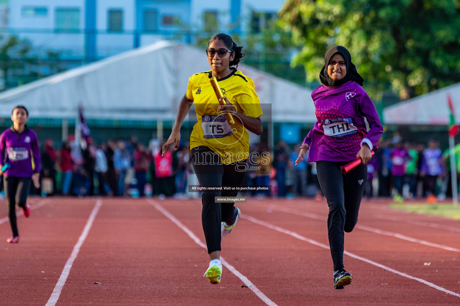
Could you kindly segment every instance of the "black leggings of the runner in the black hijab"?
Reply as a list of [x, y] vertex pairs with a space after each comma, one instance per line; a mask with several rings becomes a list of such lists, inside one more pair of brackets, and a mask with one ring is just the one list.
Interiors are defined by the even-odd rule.
[[344, 236], [358, 222], [358, 211], [366, 185], [368, 169], [359, 165], [342, 175], [340, 166], [345, 162], [318, 161], [316, 171], [322, 192], [328, 200], [328, 236], [334, 271], [344, 267]]

